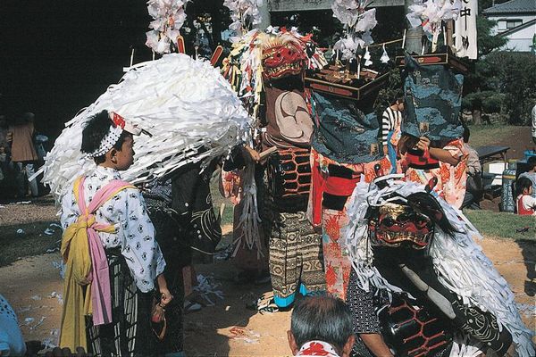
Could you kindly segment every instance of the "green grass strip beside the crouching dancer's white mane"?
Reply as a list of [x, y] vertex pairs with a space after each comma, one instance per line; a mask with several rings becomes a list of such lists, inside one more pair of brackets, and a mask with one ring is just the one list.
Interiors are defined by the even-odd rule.
[[[507, 212], [465, 210], [465, 216], [483, 236], [536, 241], [536, 218]], [[522, 233], [516, 229], [529, 228]]]

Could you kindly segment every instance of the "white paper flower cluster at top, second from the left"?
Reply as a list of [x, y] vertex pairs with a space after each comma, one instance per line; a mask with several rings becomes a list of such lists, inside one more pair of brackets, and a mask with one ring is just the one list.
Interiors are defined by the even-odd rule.
[[229, 29], [234, 30], [239, 36], [244, 35], [252, 27], [256, 27], [262, 21], [259, 7], [263, 6], [263, 0], [224, 0], [223, 5], [230, 10], [232, 23]]

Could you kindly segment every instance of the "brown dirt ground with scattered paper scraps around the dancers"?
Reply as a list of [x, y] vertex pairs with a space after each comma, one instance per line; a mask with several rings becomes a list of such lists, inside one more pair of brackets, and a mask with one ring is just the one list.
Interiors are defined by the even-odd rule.
[[[226, 227], [227, 228], [227, 227]], [[227, 228], [229, 229], [229, 228]], [[512, 286], [525, 324], [536, 328], [534, 262], [536, 245], [485, 238], [482, 248]], [[48, 253], [0, 268], [1, 293], [13, 304], [27, 340], [57, 343], [61, 316], [62, 279], [59, 253]], [[531, 267], [532, 268], [529, 268]], [[198, 265], [197, 273], [211, 277], [213, 290], [222, 299], [209, 295], [214, 306], [186, 315], [185, 350], [188, 356], [287, 356], [286, 331], [290, 313], [260, 314], [248, 310], [247, 303], [269, 292], [270, 286], [239, 285], [232, 261]], [[532, 290], [531, 290], [532, 289]], [[532, 291], [532, 292], [531, 292]]]

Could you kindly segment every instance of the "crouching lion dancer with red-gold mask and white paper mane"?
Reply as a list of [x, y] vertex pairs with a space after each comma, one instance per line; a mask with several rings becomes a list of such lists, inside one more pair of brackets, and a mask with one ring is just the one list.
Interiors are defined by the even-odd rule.
[[[343, 233], [355, 272], [348, 303], [357, 333], [381, 333], [396, 355], [534, 355], [504, 278], [476, 245], [478, 231], [403, 175], [359, 183]], [[366, 351], [360, 351], [368, 355]], [[492, 355], [496, 355], [492, 354]]]

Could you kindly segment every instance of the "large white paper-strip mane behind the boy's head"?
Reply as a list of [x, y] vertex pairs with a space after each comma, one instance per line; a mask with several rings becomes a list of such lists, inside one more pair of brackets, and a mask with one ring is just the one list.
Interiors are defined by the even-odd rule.
[[161, 178], [188, 162], [208, 162], [248, 140], [250, 118], [220, 72], [186, 54], [165, 54], [130, 69], [66, 123], [44, 165], [43, 181], [56, 198], [95, 167], [80, 153], [81, 133], [88, 118], [102, 110], [120, 113], [153, 135], [135, 138], [134, 164], [121, 172], [132, 183]]

